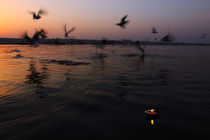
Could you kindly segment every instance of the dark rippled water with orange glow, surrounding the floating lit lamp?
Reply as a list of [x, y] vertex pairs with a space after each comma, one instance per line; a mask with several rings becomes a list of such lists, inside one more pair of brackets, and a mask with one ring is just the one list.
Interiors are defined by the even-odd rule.
[[0, 140], [210, 139], [210, 47], [146, 52], [1, 45]]

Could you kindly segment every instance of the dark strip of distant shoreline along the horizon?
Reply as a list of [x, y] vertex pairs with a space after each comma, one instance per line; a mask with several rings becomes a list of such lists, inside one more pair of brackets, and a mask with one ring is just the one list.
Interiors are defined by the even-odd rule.
[[[41, 39], [40, 44], [52, 44], [52, 45], [67, 45], [67, 44], [89, 44], [97, 45], [101, 40], [94, 39]], [[106, 40], [106, 45], [133, 45], [135, 41], [132, 40]], [[27, 45], [27, 42], [22, 38], [0, 38], [0, 45]], [[142, 45], [191, 45], [191, 46], [210, 46], [210, 44], [205, 43], [182, 43], [182, 42], [151, 42], [151, 41], [140, 41]]]

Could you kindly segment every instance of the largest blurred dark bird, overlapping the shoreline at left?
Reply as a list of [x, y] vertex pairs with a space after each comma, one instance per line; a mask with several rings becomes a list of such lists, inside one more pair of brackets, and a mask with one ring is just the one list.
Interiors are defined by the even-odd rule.
[[28, 44], [30, 46], [39, 46], [39, 40], [40, 40], [40, 36], [43, 34], [43, 31], [42, 30], [39, 30], [39, 31], [35, 31], [33, 37], [29, 37], [28, 36], [28, 33], [25, 32], [23, 34], [23, 38], [28, 42]]

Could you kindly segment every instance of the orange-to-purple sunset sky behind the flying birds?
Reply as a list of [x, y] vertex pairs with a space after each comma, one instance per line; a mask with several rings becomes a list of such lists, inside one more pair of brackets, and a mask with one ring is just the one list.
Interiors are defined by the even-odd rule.
[[[28, 11], [45, 8], [48, 15], [33, 20]], [[125, 30], [115, 25], [128, 15]], [[162, 37], [172, 33], [177, 41], [201, 41], [209, 33], [209, 0], [0, 0], [0, 37], [19, 38], [24, 31], [45, 28], [49, 38], [64, 37], [63, 24], [76, 26], [72, 36], [83, 39], [151, 40], [152, 27]]]

